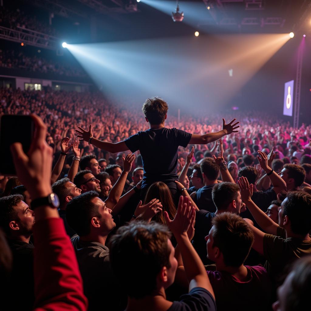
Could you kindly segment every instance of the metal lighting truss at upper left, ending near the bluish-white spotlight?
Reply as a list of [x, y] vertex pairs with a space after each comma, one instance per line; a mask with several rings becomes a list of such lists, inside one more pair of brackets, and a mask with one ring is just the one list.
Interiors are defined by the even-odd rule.
[[[20, 27], [21, 28], [21, 27]], [[38, 48], [57, 50], [59, 39], [41, 32], [21, 28], [23, 31], [0, 26], [0, 38], [14, 42], [24, 42]]]

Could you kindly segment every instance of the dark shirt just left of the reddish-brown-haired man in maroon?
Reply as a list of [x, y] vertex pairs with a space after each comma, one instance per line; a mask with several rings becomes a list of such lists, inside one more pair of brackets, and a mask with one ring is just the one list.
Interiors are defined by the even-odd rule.
[[206, 257], [207, 249], [205, 241], [205, 237], [209, 234], [211, 230], [212, 227], [211, 223], [213, 217], [215, 217], [215, 213], [211, 213], [205, 210], [197, 211], [195, 217], [195, 225], [194, 225], [195, 230], [192, 245], [194, 249], [197, 251], [204, 265], [209, 265], [213, 263]]

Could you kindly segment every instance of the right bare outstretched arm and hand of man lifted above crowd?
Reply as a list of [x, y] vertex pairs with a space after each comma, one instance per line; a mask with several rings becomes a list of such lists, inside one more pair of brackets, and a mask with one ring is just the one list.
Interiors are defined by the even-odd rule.
[[228, 124], [225, 123], [225, 119], [222, 119], [222, 130], [218, 132], [213, 132], [213, 133], [207, 133], [204, 135], [197, 135], [197, 134], [192, 134], [191, 139], [189, 141], [189, 144], [193, 145], [204, 145], [208, 144], [209, 142], [214, 142], [215, 140], [225, 136], [229, 135], [231, 133], [236, 133], [238, 131], [234, 131], [235, 129], [239, 128], [240, 126], [238, 125], [240, 122], [235, 122], [236, 118], [234, 118], [231, 122]]

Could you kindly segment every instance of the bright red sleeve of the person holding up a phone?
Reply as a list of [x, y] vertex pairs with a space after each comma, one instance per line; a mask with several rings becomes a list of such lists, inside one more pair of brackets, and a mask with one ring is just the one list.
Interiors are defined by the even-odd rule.
[[87, 310], [82, 279], [61, 218], [34, 225], [35, 311]]

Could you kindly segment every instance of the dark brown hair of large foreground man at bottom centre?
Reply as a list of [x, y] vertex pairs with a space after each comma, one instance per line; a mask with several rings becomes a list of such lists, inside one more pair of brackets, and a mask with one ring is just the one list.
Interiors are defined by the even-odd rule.
[[140, 299], [156, 290], [156, 276], [163, 267], [171, 267], [170, 236], [167, 227], [144, 221], [132, 221], [112, 236], [111, 267], [129, 297]]

